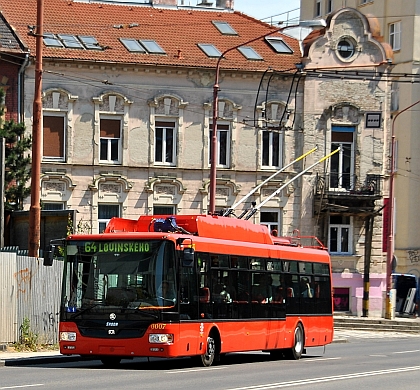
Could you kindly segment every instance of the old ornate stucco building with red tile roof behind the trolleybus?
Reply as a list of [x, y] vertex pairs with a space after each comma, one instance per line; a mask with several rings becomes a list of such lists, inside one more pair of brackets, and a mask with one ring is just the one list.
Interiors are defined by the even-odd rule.
[[[12, 6], [0, 0], [5, 23], [30, 53], [35, 39], [27, 26], [35, 25], [35, 3], [15, 0]], [[273, 28], [234, 12], [230, 1], [217, 2], [217, 8], [169, 4], [176, 1], [44, 3], [43, 208], [76, 209], [78, 223], [92, 232], [113, 216], [207, 213], [217, 59]], [[317, 146], [257, 191], [238, 215], [340, 147], [267, 202], [254, 222], [282, 235], [299, 230], [319, 236], [332, 254], [336, 309], [353, 313], [361, 312], [370, 242], [365, 228], [372, 226], [371, 313], [381, 315], [385, 263], [379, 210], [390, 91], [389, 54], [376, 33], [374, 20], [343, 9], [302, 46], [273, 31], [226, 54], [216, 209], [232, 206]], [[340, 42], [353, 43], [354, 50]], [[358, 77], [362, 71], [366, 75]], [[31, 57], [22, 96], [29, 130], [33, 94]], [[367, 114], [373, 115], [368, 126]]]

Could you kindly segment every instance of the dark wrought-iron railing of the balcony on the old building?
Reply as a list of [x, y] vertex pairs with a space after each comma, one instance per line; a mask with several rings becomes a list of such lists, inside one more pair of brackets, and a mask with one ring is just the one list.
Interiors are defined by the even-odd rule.
[[381, 196], [382, 177], [380, 175], [368, 174], [363, 179], [349, 173], [331, 172], [317, 174], [315, 194], [337, 195], [373, 195]]

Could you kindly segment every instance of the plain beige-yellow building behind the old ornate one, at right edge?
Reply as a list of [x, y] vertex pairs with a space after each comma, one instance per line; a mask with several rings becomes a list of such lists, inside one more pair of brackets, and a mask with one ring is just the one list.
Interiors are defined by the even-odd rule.
[[[301, 18], [327, 17], [343, 8], [377, 18], [377, 29], [392, 48], [391, 128], [394, 128], [394, 237], [395, 272], [420, 277], [420, 221], [417, 195], [420, 190], [420, 90], [418, 88], [420, 2], [418, 0], [304, 0]], [[411, 107], [412, 106], [412, 107]], [[390, 152], [388, 153], [390, 172]], [[386, 249], [386, 248], [384, 248]]]

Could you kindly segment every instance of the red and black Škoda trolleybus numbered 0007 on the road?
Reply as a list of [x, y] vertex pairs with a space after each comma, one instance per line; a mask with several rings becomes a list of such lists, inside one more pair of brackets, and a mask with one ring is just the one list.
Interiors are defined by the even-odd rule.
[[[262, 350], [299, 359], [331, 343], [330, 258], [247, 220], [114, 218], [64, 242], [60, 351], [123, 358]], [[200, 363], [200, 364], [201, 364]]]

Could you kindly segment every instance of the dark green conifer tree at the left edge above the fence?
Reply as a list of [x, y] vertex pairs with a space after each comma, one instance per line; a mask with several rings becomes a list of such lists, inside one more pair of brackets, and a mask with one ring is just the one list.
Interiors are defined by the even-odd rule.
[[[0, 102], [4, 92], [0, 90]], [[0, 107], [0, 117], [4, 112]], [[31, 193], [27, 185], [31, 177], [31, 137], [25, 137], [25, 125], [13, 120], [0, 122], [0, 138], [5, 139], [4, 208], [23, 210], [23, 201]]]

